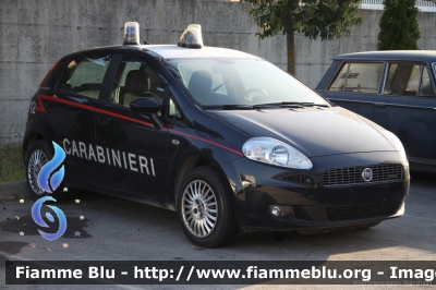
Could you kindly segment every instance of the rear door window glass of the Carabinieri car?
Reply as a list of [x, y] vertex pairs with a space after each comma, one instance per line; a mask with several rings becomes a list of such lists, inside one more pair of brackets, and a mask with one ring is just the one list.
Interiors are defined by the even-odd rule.
[[109, 63], [110, 56], [82, 57], [70, 61], [60, 88], [98, 98]]

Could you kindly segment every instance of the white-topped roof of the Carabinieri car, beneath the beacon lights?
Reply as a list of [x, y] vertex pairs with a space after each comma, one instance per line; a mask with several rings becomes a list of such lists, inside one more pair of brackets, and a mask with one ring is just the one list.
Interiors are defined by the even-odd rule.
[[[141, 46], [107, 46], [95, 47], [87, 51], [106, 50], [106, 49], [126, 49], [153, 51], [165, 59], [189, 59], [189, 58], [243, 58], [243, 59], [261, 59], [259, 57], [242, 52], [239, 50], [220, 48], [220, 47], [203, 47], [203, 48], [184, 48], [177, 45], [141, 45]], [[81, 52], [84, 52], [83, 50]]]

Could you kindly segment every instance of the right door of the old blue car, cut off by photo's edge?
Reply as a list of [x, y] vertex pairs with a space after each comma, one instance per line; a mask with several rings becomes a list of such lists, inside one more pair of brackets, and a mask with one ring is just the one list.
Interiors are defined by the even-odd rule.
[[436, 99], [426, 63], [388, 63], [383, 95], [374, 102], [374, 121], [396, 134], [410, 161], [436, 164]]

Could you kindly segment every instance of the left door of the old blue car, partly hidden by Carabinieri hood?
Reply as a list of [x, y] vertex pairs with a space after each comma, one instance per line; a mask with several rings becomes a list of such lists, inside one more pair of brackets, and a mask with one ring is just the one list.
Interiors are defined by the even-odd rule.
[[343, 61], [322, 94], [336, 105], [373, 120], [383, 70], [383, 62]]

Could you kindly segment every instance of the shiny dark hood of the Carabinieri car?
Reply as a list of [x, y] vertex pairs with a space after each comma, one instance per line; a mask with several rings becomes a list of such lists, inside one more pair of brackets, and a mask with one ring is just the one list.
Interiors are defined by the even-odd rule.
[[383, 128], [340, 107], [208, 112], [253, 137], [286, 142], [307, 157], [398, 150]]

